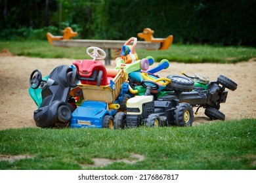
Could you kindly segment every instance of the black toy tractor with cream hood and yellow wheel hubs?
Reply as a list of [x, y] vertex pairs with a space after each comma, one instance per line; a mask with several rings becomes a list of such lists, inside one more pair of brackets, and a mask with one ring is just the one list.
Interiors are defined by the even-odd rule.
[[191, 126], [194, 122], [192, 106], [189, 103], [179, 103], [177, 96], [168, 99], [154, 100], [150, 93], [158, 90], [159, 85], [152, 80], [143, 80], [142, 86], [146, 88], [144, 95], [136, 95], [127, 100], [127, 113], [117, 112], [114, 124], [117, 128], [159, 126]]

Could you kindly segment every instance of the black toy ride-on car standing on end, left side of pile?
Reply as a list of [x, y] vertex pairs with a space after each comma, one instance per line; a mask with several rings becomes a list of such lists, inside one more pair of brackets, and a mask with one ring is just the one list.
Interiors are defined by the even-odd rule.
[[34, 70], [30, 76], [32, 90], [41, 88], [41, 104], [33, 113], [38, 127], [51, 127], [56, 122], [68, 122], [74, 107], [68, 103], [70, 89], [76, 87], [76, 73], [68, 65], [53, 69], [47, 80], [42, 79], [41, 72]]

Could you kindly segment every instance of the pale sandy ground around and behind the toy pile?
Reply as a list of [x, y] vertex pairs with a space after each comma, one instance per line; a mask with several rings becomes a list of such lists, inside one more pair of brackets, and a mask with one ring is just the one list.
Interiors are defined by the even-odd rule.
[[[221, 104], [221, 112], [226, 120], [256, 118], [256, 58], [236, 64], [198, 63], [184, 64], [171, 62], [170, 67], [158, 73], [160, 76], [180, 75], [181, 71], [192, 75], [200, 73], [216, 80], [219, 75], [227, 76], [238, 84], [234, 92], [228, 90], [226, 103]], [[71, 65], [74, 59], [42, 59], [12, 56], [0, 53], [0, 129], [36, 127], [33, 110], [37, 108], [28, 93], [30, 74], [39, 69], [43, 76], [49, 75], [54, 67]], [[157, 64], [157, 63], [156, 63]], [[109, 68], [114, 68], [114, 62]], [[196, 108], [194, 108], [196, 110]], [[194, 125], [211, 122], [200, 109]]]

